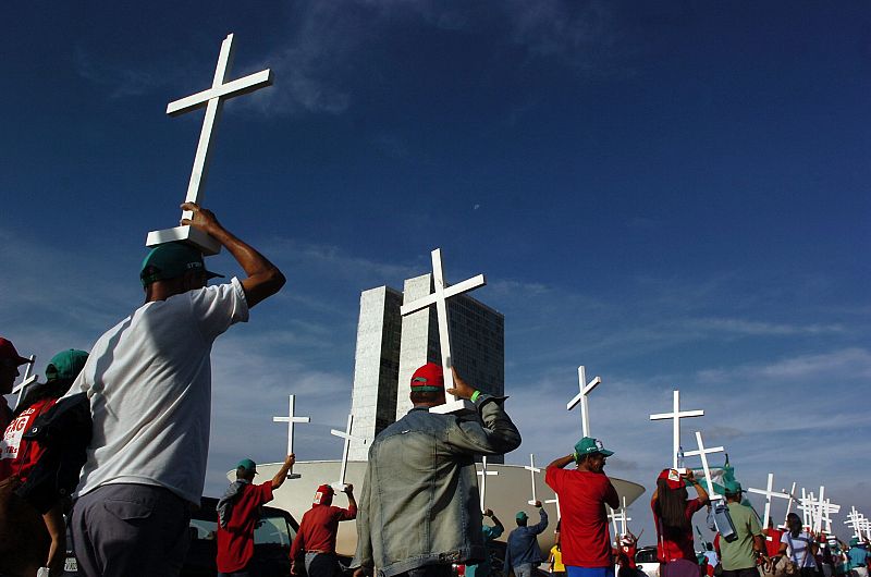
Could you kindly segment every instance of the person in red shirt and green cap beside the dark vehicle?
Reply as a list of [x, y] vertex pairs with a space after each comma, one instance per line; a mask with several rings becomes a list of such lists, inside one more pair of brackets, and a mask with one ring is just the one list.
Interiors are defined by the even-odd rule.
[[253, 484], [257, 464], [243, 458], [236, 465], [236, 480], [218, 501], [218, 575], [250, 577], [248, 566], [254, 556], [254, 529], [260, 520], [260, 505], [272, 501], [272, 492], [284, 483], [295, 462], [287, 455], [272, 480]]

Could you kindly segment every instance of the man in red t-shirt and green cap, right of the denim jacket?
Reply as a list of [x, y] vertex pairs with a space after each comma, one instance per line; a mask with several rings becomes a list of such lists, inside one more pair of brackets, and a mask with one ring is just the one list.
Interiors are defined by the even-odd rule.
[[[604, 474], [613, 455], [598, 439], [585, 437], [575, 452], [548, 465], [544, 482], [560, 499], [560, 541], [568, 577], [614, 577], [605, 504], [619, 507], [619, 496]], [[565, 470], [577, 463], [576, 470]]]

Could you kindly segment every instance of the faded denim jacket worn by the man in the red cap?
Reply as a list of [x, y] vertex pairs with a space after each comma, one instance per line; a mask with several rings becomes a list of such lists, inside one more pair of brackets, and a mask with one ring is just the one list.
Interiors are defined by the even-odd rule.
[[475, 455], [501, 455], [520, 444], [502, 401], [481, 394], [477, 415], [413, 408], [376, 437], [352, 567], [375, 566], [380, 577], [391, 577], [484, 558]]

